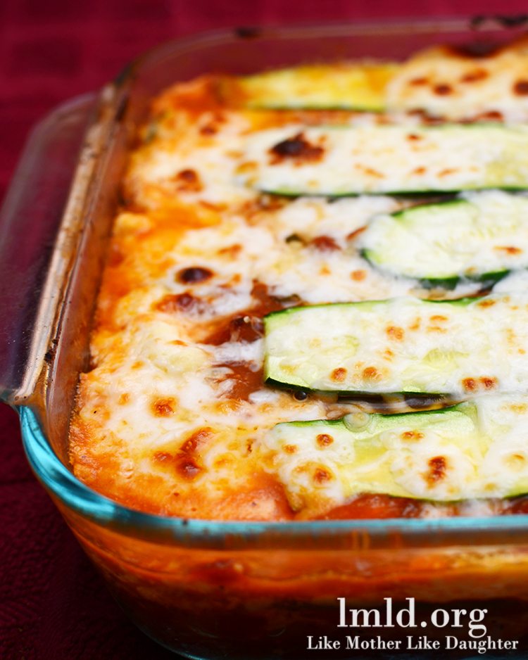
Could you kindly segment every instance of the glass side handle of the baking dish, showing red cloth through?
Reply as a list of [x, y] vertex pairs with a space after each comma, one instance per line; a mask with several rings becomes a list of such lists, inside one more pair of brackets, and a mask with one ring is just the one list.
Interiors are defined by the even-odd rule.
[[[0, 398], [17, 402], [33, 364], [39, 297], [96, 94], [58, 106], [30, 133], [0, 211]], [[46, 331], [46, 329], [39, 329]]]

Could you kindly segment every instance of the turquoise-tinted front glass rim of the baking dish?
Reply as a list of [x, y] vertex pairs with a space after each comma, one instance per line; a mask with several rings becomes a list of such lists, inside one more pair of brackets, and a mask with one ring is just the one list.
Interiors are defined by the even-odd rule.
[[[383, 520], [339, 520], [339, 521], [298, 521], [253, 522], [253, 521], [207, 521], [200, 519], [168, 518], [146, 514], [130, 509], [96, 493], [79, 481], [58, 459], [44, 436], [37, 415], [30, 407], [17, 408], [20, 415], [23, 446], [34, 474], [44, 487], [58, 497], [68, 509], [87, 517], [115, 531], [147, 537], [155, 535], [156, 540], [177, 541], [182, 545], [218, 547], [225, 545], [227, 536], [233, 535], [246, 545], [260, 547], [259, 541], [267, 538], [266, 547], [284, 547], [284, 539], [309, 540], [314, 534], [318, 537], [348, 533], [363, 533], [378, 540], [389, 540], [391, 535], [422, 536], [422, 540], [432, 533], [454, 533], [453, 541], [469, 543], [481, 534], [486, 543], [511, 542], [503, 538], [504, 533], [527, 532], [528, 515], [494, 518], [444, 518], [428, 519], [383, 519]], [[156, 534], [158, 533], [158, 534]], [[452, 535], [452, 534], [451, 534]], [[451, 536], [450, 535], [450, 536]], [[233, 540], [233, 539], [231, 539]], [[275, 542], [274, 542], [275, 541]], [[270, 543], [271, 542], [271, 543]], [[242, 544], [242, 545], [244, 545]], [[385, 546], [385, 544], [383, 544]], [[422, 545], [420, 543], [420, 545]], [[429, 542], [427, 545], [434, 543]], [[386, 547], [389, 547], [388, 545]]]

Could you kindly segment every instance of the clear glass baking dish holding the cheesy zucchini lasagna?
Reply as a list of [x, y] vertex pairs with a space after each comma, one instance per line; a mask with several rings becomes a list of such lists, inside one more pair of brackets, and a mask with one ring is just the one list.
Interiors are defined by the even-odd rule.
[[[165, 647], [200, 660], [480, 657], [461, 642], [444, 652], [431, 646], [439, 640], [447, 648], [450, 635], [489, 636], [495, 647], [487, 658], [528, 656], [528, 515], [166, 518], [90, 490], [67, 457], [120, 176], [151, 96], [203, 72], [403, 58], [438, 43], [478, 51], [524, 24], [522, 17], [508, 19], [509, 29], [486, 20], [406, 21], [180, 39], [132, 63], [101, 94], [61, 106], [30, 137], [0, 220], [0, 281], [9, 284], [0, 292], [0, 393], [20, 414], [34, 473], [113, 595]], [[375, 614], [354, 619], [361, 608], [379, 609], [379, 621]], [[367, 648], [354, 647], [372, 638]], [[497, 640], [516, 645], [497, 647]]]

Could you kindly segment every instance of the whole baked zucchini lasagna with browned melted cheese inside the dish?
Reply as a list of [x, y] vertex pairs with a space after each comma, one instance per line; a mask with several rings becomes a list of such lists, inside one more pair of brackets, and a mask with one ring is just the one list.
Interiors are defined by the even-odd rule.
[[165, 516], [528, 512], [527, 190], [526, 41], [164, 91], [75, 474]]

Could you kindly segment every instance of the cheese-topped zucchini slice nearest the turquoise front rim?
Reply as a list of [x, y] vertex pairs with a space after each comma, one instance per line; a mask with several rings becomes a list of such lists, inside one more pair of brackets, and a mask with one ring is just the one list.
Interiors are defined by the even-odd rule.
[[277, 424], [259, 450], [298, 510], [360, 493], [513, 497], [528, 493], [527, 426], [525, 396], [486, 396], [430, 412]]

